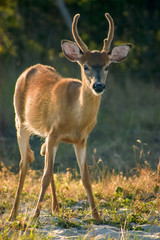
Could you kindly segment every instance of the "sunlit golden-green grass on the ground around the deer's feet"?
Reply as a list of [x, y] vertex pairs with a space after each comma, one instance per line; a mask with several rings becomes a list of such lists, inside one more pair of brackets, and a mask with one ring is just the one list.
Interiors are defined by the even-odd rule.
[[[102, 172], [97, 162], [90, 168], [93, 192], [102, 221], [91, 219], [86, 193], [76, 170], [55, 174], [57, 195], [61, 205], [59, 214], [50, 213], [51, 190], [47, 190], [43, 211], [48, 221], [61, 228], [89, 229], [92, 224], [107, 224], [123, 230], [143, 230], [141, 225], [160, 225], [160, 163], [153, 171], [146, 162], [137, 167], [130, 176]], [[97, 171], [95, 171], [97, 170]], [[95, 176], [99, 173], [98, 180]], [[47, 225], [46, 220], [33, 221], [31, 210], [35, 209], [40, 191], [41, 172], [29, 170], [16, 221], [9, 222], [9, 213], [17, 188], [18, 175], [4, 165], [0, 171], [0, 239], [49, 239], [40, 231]], [[40, 229], [40, 231], [37, 231]], [[43, 233], [43, 231], [42, 231]], [[78, 239], [78, 238], [77, 238]], [[85, 239], [85, 238], [84, 238]]]

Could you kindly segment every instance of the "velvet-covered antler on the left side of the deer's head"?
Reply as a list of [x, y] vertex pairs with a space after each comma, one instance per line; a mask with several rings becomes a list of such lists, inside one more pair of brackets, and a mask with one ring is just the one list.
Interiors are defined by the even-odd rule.
[[82, 52], [87, 52], [88, 51], [88, 47], [86, 46], [86, 44], [80, 38], [80, 36], [78, 34], [78, 30], [77, 30], [77, 23], [78, 23], [79, 17], [80, 17], [80, 14], [76, 14], [74, 16], [74, 18], [73, 18], [72, 35], [73, 35], [73, 38], [74, 38], [75, 42], [77, 43], [77, 45], [82, 50]]

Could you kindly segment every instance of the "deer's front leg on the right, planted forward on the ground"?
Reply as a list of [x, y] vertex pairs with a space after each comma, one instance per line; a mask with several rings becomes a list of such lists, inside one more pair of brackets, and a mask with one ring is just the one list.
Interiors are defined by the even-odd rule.
[[99, 221], [100, 218], [99, 218], [99, 214], [98, 214], [95, 202], [94, 202], [91, 183], [90, 183], [90, 176], [89, 176], [88, 166], [87, 166], [86, 140], [83, 141], [82, 143], [74, 144], [74, 149], [75, 149], [75, 154], [76, 154], [76, 157], [77, 157], [77, 162], [78, 162], [78, 165], [79, 165], [79, 168], [80, 168], [82, 182], [83, 182], [83, 185], [84, 185], [85, 190], [87, 192], [89, 204], [91, 206], [92, 217], [94, 219], [96, 219], [97, 221]]

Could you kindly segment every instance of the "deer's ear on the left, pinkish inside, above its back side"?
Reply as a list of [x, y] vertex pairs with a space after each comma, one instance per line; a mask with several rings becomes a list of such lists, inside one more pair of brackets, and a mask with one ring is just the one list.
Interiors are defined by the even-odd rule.
[[71, 42], [68, 40], [62, 40], [61, 46], [62, 46], [62, 51], [63, 51], [64, 55], [71, 62], [79, 61], [83, 55], [80, 48], [74, 42]]

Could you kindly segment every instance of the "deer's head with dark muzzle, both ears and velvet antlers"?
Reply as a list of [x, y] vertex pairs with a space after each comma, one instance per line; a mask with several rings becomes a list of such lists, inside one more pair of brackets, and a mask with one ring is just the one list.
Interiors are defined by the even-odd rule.
[[102, 51], [89, 51], [86, 44], [78, 34], [77, 23], [80, 14], [76, 14], [72, 23], [72, 35], [76, 43], [62, 40], [62, 50], [64, 55], [72, 62], [78, 62], [81, 66], [82, 81], [92, 90], [95, 95], [99, 95], [105, 89], [105, 82], [109, 70], [109, 65], [119, 63], [127, 58], [132, 47], [131, 44], [121, 44], [110, 49], [114, 36], [114, 22], [112, 17], [106, 13], [105, 17], [109, 22], [107, 38], [104, 39]]

